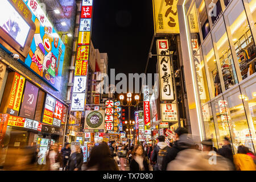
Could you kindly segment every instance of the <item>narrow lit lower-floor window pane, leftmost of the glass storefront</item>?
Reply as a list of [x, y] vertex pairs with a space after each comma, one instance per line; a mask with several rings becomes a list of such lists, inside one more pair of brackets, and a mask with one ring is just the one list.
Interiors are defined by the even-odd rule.
[[204, 130], [206, 139], [213, 140], [213, 147], [218, 149], [217, 138], [216, 138], [216, 130], [214, 127], [213, 115], [212, 115], [212, 107], [210, 104], [205, 104], [202, 106], [203, 119], [204, 119]]

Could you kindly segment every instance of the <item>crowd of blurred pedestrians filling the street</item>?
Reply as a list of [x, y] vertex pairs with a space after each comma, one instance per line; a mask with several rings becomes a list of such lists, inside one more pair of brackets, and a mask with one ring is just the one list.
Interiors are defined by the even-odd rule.
[[[88, 163], [80, 146], [69, 143], [59, 152], [59, 144], [53, 144], [42, 158], [40, 150], [31, 147], [17, 150], [9, 149], [5, 170], [49, 170], [49, 171], [256, 171], [256, 156], [245, 146], [237, 148], [233, 154], [232, 144], [225, 137], [224, 146], [217, 150], [212, 139], [196, 144], [188, 131], [179, 127], [175, 130], [174, 142], [166, 142], [164, 136], [158, 137], [155, 145], [139, 143], [109, 144], [101, 142], [92, 147]], [[82, 168], [82, 166], [84, 166]]]

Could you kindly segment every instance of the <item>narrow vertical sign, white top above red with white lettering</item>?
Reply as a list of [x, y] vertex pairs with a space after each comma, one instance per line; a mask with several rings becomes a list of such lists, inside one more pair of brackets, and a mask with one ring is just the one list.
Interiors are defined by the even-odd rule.
[[150, 128], [150, 98], [148, 88], [143, 91], [143, 106], [144, 106], [144, 125], [145, 129]]

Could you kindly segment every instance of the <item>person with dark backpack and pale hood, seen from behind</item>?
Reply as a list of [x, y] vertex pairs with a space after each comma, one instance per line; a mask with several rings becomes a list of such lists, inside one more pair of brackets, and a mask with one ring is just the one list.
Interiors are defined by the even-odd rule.
[[158, 144], [151, 155], [152, 162], [155, 162], [155, 171], [166, 171], [167, 164], [170, 162], [171, 148], [165, 142], [164, 136], [158, 137]]

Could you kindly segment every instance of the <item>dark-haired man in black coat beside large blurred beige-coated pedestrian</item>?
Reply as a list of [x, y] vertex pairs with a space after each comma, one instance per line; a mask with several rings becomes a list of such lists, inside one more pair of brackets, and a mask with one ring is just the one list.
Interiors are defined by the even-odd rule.
[[[183, 134], [188, 134], [188, 130], [185, 129], [184, 127], [178, 127], [175, 131], [175, 136], [174, 136], [174, 144], [170, 148], [170, 151], [167, 154], [167, 159], [166, 163], [170, 163], [172, 160], [174, 160], [177, 156], [177, 153], [181, 150], [184, 150], [184, 146], [182, 142], [179, 142], [179, 137]], [[154, 153], [154, 152], [153, 152]], [[167, 166], [166, 164], [166, 166]]]

